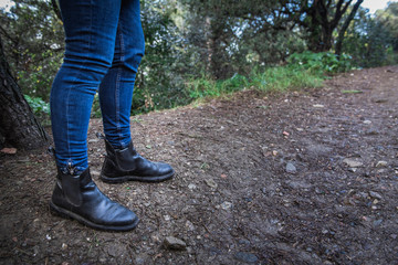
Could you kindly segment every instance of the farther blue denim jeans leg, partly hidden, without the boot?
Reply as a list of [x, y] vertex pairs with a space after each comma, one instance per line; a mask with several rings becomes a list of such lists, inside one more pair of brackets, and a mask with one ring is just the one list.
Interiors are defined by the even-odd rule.
[[139, 0], [122, 0], [114, 60], [98, 93], [105, 137], [117, 149], [128, 147], [132, 140], [134, 83], [145, 49], [139, 13]]

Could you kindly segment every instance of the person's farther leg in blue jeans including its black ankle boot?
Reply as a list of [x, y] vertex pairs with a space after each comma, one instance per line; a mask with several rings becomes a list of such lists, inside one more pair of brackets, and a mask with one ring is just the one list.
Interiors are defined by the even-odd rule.
[[101, 179], [107, 182], [157, 182], [170, 179], [175, 173], [169, 165], [151, 162], [139, 156], [130, 138], [134, 82], [144, 49], [139, 0], [122, 0], [115, 56], [100, 86], [107, 152]]

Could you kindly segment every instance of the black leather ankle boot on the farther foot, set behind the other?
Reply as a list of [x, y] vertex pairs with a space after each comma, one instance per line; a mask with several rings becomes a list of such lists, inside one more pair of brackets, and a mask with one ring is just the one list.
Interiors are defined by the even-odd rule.
[[101, 179], [109, 183], [129, 180], [160, 182], [172, 178], [174, 169], [168, 163], [151, 162], [143, 158], [134, 148], [133, 141], [122, 150], [116, 150], [105, 140], [106, 157], [101, 171]]

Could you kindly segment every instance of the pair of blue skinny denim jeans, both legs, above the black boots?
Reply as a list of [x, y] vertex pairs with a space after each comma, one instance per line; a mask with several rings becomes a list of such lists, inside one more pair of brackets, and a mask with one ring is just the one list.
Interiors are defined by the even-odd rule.
[[87, 129], [96, 91], [106, 139], [130, 142], [129, 116], [144, 55], [139, 0], [60, 0], [66, 49], [51, 89], [55, 160], [62, 171], [88, 167]]

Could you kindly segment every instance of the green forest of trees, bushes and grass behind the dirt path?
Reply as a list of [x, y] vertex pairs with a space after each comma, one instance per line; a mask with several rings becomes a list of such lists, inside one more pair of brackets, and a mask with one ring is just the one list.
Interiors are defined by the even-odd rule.
[[[50, 124], [64, 33], [56, 2], [0, 9], [6, 59], [23, 95]], [[239, 89], [317, 86], [336, 72], [398, 63], [398, 2], [370, 14], [363, 0], [142, 0], [146, 55], [132, 115]], [[100, 117], [97, 98], [93, 116]]]

